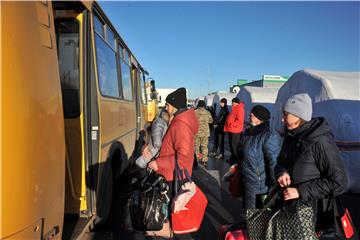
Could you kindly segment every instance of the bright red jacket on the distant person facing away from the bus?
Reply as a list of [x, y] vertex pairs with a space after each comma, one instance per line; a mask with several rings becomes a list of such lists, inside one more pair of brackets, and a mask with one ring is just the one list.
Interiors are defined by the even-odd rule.
[[244, 130], [244, 103], [233, 106], [226, 119], [224, 132], [241, 133]]

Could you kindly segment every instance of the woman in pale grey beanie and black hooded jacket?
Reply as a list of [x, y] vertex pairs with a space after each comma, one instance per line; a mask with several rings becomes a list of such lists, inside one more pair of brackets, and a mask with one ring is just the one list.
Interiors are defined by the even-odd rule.
[[285, 201], [296, 199], [313, 206], [319, 230], [333, 224], [328, 221], [334, 218], [329, 214], [332, 211], [326, 209], [331, 206], [327, 201], [347, 190], [348, 178], [327, 121], [311, 116], [308, 94], [296, 94], [284, 105], [286, 136], [275, 175], [278, 184], [285, 188]]

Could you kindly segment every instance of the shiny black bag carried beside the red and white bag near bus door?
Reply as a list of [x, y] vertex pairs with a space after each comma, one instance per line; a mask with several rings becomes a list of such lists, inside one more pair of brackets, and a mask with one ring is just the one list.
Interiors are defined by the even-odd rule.
[[129, 199], [132, 228], [135, 231], [159, 231], [168, 219], [169, 185], [154, 172], [136, 183]]

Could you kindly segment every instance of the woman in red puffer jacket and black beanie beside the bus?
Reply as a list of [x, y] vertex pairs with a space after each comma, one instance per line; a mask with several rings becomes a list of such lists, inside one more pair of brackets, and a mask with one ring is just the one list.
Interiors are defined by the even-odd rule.
[[[187, 109], [185, 88], [179, 88], [166, 97], [166, 110], [173, 118], [163, 138], [159, 157], [150, 162], [148, 167], [172, 182], [175, 156], [180, 168], [186, 168], [190, 175], [192, 174], [195, 135], [199, 129], [199, 122], [194, 109]], [[170, 186], [172, 187], [171, 183]]]

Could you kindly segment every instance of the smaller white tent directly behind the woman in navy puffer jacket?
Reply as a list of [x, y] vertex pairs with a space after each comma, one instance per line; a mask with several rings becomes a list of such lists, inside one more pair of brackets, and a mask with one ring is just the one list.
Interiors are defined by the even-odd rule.
[[271, 119], [273, 119], [278, 91], [278, 88], [242, 87], [236, 97], [245, 104], [245, 124], [249, 122], [250, 111], [255, 105], [266, 107], [271, 112]]

